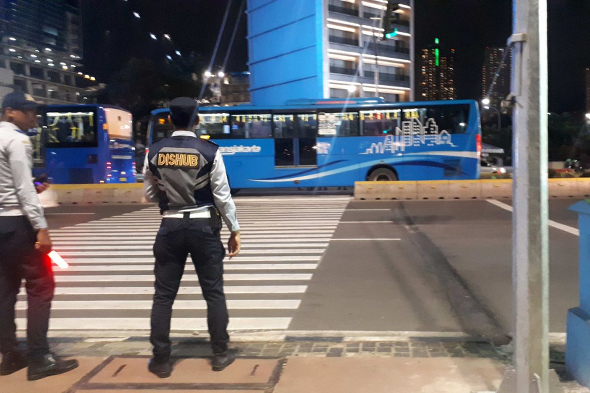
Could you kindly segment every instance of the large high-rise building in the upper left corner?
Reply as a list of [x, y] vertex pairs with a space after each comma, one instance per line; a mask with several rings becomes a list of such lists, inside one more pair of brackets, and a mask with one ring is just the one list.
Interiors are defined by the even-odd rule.
[[79, 0], [0, 0], [4, 94], [23, 91], [47, 104], [84, 102], [97, 82], [81, 71], [81, 58]]

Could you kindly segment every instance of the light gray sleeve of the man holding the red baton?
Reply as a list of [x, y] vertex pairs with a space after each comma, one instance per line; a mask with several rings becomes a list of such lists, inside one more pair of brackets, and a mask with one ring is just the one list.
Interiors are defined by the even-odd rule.
[[8, 161], [14, 188], [22, 210], [34, 229], [47, 228], [43, 206], [37, 196], [31, 172], [32, 147], [28, 137], [12, 138], [8, 143]]

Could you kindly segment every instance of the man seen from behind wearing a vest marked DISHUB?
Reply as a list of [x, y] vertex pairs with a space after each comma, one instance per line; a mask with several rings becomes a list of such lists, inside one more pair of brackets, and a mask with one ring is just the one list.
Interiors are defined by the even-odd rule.
[[171, 101], [168, 120], [176, 131], [150, 147], [143, 169], [146, 199], [158, 202], [163, 216], [153, 246], [156, 282], [150, 341], [154, 348], [148, 367], [160, 378], [172, 372], [172, 304], [189, 254], [207, 302], [212, 368], [221, 371], [235, 359], [235, 351], [227, 345], [230, 336], [223, 289], [225, 248], [219, 233], [222, 218], [231, 231], [228, 251], [232, 257], [240, 252], [240, 226], [219, 148], [196, 137], [193, 131], [199, 123], [198, 111], [192, 98]]

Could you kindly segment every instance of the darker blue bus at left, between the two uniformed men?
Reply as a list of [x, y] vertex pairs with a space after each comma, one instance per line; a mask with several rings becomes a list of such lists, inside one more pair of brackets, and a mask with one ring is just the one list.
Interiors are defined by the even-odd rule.
[[57, 184], [135, 183], [133, 119], [99, 104], [47, 105], [30, 133], [34, 174]]

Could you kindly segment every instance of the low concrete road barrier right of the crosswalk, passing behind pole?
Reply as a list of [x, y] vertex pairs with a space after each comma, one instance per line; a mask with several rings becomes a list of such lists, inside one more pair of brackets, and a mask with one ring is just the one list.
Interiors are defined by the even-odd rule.
[[[549, 179], [549, 197], [590, 197], [590, 177]], [[356, 181], [357, 200], [509, 199], [512, 179]]]

